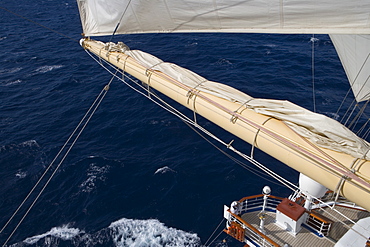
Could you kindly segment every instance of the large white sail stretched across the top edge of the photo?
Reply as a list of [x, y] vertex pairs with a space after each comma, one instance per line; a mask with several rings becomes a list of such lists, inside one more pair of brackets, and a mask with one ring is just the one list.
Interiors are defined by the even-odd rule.
[[249, 32], [370, 34], [364, 0], [77, 0], [86, 36]]

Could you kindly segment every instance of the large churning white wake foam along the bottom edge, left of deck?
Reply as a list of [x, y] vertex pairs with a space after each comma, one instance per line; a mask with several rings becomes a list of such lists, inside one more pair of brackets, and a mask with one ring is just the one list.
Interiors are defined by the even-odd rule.
[[12, 246], [201, 246], [197, 234], [166, 227], [156, 219], [120, 219], [96, 233], [64, 225]]

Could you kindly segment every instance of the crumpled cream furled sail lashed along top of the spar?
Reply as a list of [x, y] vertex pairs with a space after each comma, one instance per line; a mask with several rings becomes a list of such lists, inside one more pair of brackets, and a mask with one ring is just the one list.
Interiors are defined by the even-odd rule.
[[369, 143], [356, 136], [338, 121], [325, 115], [311, 112], [289, 101], [254, 99], [235, 88], [208, 81], [190, 70], [163, 62], [142, 51], [133, 50], [125, 53], [135, 58], [144, 67], [161, 71], [191, 88], [238, 102], [257, 113], [282, 120], [298, 134], [320, 147], [370, 160]]

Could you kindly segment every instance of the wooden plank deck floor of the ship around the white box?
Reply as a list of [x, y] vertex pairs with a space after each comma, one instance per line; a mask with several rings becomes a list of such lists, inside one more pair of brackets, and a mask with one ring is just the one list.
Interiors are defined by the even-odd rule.
[[[354, 222], [357, 222], [363, 217], [370, 216], [369, 212], [364, 212], [356, 209], [339, 206], [335, 209], [349, 217]], [[306, 226], [302, 227], [299, 233], [294, 236], [294, 234], [287, 232], [285, 229], [282, 229], [275, 223], [274, 212], [267, 212], [264, 223], [265, 235], [267, 235], [280, 246], [284, 246], [284, 244], [289, 244], [289, 246], [307, 246], [308, 243], [310, 246], [334, 246], [336, 241], [338, 241], [339, 238], [343, 236], [349, 229], [348, 227], [338, 222], [338, 220], [343, 221], [349, 227], [353, 225], [349, 220], [345, 219], [343, 216], [330, 208], [326, 208], [325, 210], [320, 209], [316, 212], [324, 215], [334, 222], [331, 226], [328, 237], [319, 236], [317, 233]], [[245, 213], [242, 215], [241, 218], [254, 226], [256, 229], [258, 229], [260, 224], [258, 213], [259, 211]]]

